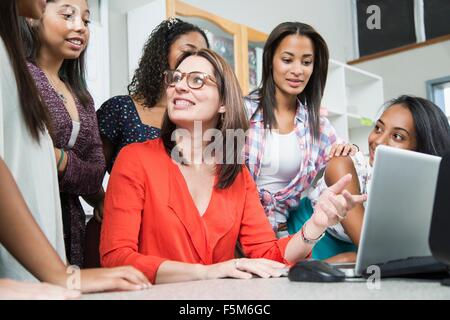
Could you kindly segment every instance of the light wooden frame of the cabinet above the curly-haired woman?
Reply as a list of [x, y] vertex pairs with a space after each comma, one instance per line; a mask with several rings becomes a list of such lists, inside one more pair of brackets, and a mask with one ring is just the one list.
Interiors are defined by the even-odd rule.
[[222, 18], [180, 0], [166, 0], [167, 17], [197, 17], [214, 23], [233, 36], [236, 77], [244, 94], [249, 90], [248, 41], [265, 42], [267, 35], [255, 29]]

